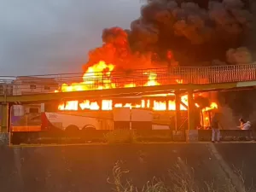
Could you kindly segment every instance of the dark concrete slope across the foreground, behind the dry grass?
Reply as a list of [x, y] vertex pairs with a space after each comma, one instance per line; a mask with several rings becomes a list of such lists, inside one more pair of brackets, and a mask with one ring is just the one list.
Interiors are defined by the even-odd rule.
[[[122, 160], [122, 167], [130, 171], [125, 178], [131, 178], [138, 187], [152, 177], [160, 177], [172, 186], [172, 178], [178, 174], [183, 178], [189, 176], [199, 191], [204, 183], [213, 181], [216, 188], [228, 191], [230, 182], [222, 162], [238, 169], [243, 166], [246, 186], [250, 187], [256, 178], [252, 168], [256, 162], [255, 149], [254, 143], [0, 148], [0, 186], [4, 192], [108, 192], [113, 186], [107, 178], [112, 176], [114, 164]], [[168, 170], [175, 165], [180, 168], [172, 170], [170, 177]], [[194, 172], [190, 172], [192, 169]]]

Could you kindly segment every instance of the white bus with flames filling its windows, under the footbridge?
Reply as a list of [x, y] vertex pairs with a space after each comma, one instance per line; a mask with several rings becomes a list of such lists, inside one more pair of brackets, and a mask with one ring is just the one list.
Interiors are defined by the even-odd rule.
[[[187, 96], [181, 96], [179, 129], [186, 129]], [[52, 105], [51, 105], [52, 106]], [[195, 108], [198, 106], [195, 103]], [[42, 130], [57, 128], [70, 130], [113, 130], [113, 129], [174, 129], [176, 106], [174, 95], [143, 96], [116, 98], [113, 100], [67, 101], [56, 108], [41, 114]], [[198, 125], [207, 127], [207, 111], [217, 108], [216, 103], [210, 107], [196, 110]], [[47, 108], [46, 108], [47, 109]], [[50, 112], [51, 111], [51, 112]]]

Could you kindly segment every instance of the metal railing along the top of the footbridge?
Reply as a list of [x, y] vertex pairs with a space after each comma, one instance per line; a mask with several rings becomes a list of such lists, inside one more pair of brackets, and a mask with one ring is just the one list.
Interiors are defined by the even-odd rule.
[[[101, 90], [158, 84], [222, 84], [256, 80], [256, 64], [216, 67], [163, 67], [132, 72], [62, 73], [0, 77], [0, 95]], [[72, 84], [72, 86], [70, 86]], [[9, 89], [9, 91], [8, 91]]]

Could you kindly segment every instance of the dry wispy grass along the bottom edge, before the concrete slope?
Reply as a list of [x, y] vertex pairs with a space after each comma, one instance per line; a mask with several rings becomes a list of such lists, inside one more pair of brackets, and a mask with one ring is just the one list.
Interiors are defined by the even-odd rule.
[[[236, 187], [231, 183], [230, 178], [224, 181], [224, 186], [220, 186], [219, 183], [212, 181], [212, 183], [204, 183], [200, 186], [195, 182], [194, 170], [186, 170], [180, 163], [175, 164], [168, 171], [168, 179], [171, 180], [169, 186], [166, 185], [157, 177], [153, 177], [151, 181], [148, 181], [143, 185], [142, 189], [138, 189], [131, 180], [125, 179], [125, 175], [129, 173], [129, 170], [122, 169], [122, 161], [118, 161], [113, 166], [112, 179], [108, 177], [108, 183], [113, 186], [113, 191], [116, 192], [236, 192]], [[243, 177], [240, 175], [241, 182], [244, 182]], [[246, 190], [246, 192], [251, 189]]]

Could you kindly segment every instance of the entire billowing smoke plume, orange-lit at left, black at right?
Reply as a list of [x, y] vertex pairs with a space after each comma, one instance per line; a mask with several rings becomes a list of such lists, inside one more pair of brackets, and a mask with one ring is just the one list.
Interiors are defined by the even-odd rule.
[[150, 0], [129, 30], [103, 30], [102, 47], [90, 51], [84, 69], [101, 60], [116, 69], [248, 63], [249, 51], [236, 48], [252, 24], [250, 7], [241, 0]]

